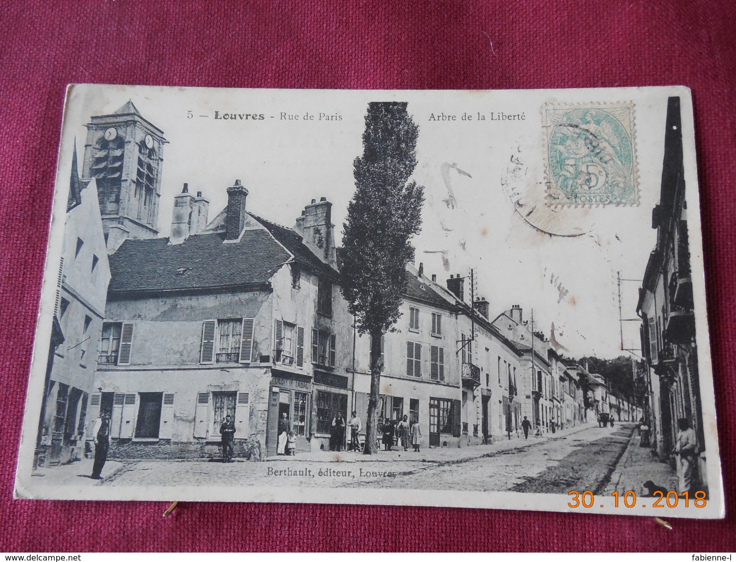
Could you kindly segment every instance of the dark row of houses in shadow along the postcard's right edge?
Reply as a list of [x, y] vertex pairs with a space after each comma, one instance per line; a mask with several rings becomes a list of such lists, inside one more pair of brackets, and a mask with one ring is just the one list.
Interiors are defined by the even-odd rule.
[[662, 183], [652, 228], [657, 229], [657, 244], [646, 264], [637, 303], [645, 360], [645, 421], [659, 459], [672, 464], [677, 421], [688, 421], [698, 440], [698, 477], [707, 485], [679, 97], [668, 102]]

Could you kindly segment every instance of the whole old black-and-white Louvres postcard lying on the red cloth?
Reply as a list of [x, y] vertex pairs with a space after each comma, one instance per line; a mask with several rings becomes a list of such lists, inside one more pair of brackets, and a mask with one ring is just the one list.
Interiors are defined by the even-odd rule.
[[723, 517], [694, 139], [683, 87], [71, 85], [15, 496]]

